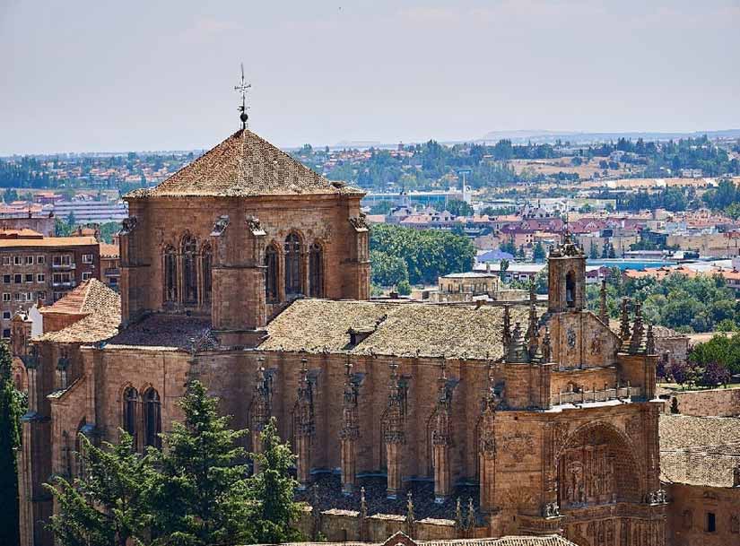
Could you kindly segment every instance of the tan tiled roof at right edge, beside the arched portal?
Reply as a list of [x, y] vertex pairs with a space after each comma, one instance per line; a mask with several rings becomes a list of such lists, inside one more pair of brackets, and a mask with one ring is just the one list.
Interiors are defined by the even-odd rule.
[[740, 464], [740, 419], [661, 415], [659, 433], [663, 481], [732, 487]]

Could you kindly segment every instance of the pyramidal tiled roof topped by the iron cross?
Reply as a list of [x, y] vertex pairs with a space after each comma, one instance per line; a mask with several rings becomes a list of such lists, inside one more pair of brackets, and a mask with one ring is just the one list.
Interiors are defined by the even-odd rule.
[[361, 194], [361, 190], [321, 177], [257, 134], [240, 129], [159, 186], [126, 197], [304, 194]]

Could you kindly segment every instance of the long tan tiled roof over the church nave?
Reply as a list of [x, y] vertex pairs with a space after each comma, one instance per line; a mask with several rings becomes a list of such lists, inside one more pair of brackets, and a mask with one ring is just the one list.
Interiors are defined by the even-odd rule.
[[[499, 359], [503, 308], [300, 299], [267, 325], [263, 351]], [[527, 308], [512, 308], [525, 324]], [[350, 328], [371, 333], [350, 345]]]

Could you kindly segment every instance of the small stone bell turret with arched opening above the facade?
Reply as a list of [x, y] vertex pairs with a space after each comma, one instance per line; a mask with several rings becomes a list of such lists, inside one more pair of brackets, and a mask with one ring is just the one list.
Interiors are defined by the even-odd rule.
[[547, 260], [551, 313], [582, 311], [586, 307], [586, 255], [565, 234], [562, 245], [553, 248]]

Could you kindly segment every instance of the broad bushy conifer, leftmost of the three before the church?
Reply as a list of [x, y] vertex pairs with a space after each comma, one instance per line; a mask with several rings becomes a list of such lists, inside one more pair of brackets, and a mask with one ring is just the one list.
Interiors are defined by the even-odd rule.
[[79, 435], [83, 475], [70, 482], [57, 476], [47, 485], [59, 511], [51, 527], [62, 546], [144, 544], [151, 523], [148, 488], [152, 455], [135, 452], [133, 438], [120, 431], [118, 444], [96, 447]]

